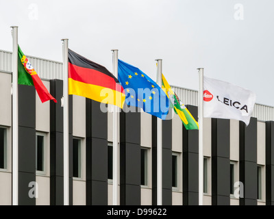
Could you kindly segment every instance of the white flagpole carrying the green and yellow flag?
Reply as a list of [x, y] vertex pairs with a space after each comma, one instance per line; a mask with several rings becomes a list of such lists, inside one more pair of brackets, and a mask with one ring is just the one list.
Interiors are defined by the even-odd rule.
[[[162, 60], [157, 61], [157, 83], [162, 88]], [[157, 117], [157, 205], [162, 205], [162, 119]]]

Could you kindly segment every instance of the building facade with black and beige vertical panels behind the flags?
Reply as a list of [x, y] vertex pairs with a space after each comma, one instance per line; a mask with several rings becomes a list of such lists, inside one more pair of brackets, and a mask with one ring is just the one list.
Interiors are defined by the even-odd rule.
[[[12, 205], [11, 55], [0, 51], [0, 205]], [[18, 85], [18, 204], [63, 205], [62, 63], [29, 60], [58, 103]], [[197, 120], [197, 91], [173, 89]], [[119, 204], [156, 205], [157, 120], [136, 111], [119, 113]], [[199, 134], [170, 113], [162, 120], [162, 203], [198, 205]], [[112, 106], [70, 95], [69, 114], [70, 204], [112, 205]], [[274, 204], [273, 120], [274, 107], [259, 104], [248, 127], [204, 118], [204, 205]]]

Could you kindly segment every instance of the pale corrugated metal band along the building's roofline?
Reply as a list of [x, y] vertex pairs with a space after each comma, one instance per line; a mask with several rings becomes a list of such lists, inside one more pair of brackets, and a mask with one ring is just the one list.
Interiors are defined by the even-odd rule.
[[[63, 79], [62, 77], [62, 62], [46, 60], [39, 57], [27, 55], [29, 62], [34, 66], [40, 78], [43, 79]], [[12, 71], [12, 53], [9, 51], [0, 50], [0, 70]], [[179, 96], [179, 99], [184, 105], [198, 105], [198, 91], [188, 88], [180, 88], [171, 86], [174, 92]], [[274, 107], [269, 105], [255, 104], [253, 109], [253, 117], [258, 120], [274, 120]]]

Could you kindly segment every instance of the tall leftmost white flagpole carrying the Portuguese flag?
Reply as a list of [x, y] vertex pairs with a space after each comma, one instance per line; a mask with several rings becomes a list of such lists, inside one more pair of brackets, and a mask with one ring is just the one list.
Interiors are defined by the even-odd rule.
[[18, 205], [18, 27], [12, 26], [12, 205]]

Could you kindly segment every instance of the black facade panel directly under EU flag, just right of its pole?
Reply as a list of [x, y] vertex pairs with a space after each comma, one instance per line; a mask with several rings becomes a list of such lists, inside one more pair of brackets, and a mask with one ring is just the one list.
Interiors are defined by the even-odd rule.
[[120, 113], [120, 142], [140, 144], [140, 112]]

